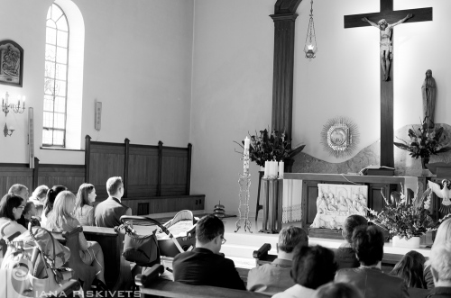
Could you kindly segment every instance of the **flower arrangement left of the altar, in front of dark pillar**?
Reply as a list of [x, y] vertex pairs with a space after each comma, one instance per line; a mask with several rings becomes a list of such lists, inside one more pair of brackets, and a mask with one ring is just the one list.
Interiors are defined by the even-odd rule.
[[[249, 134], [249, 136], [251, 139], [249, 158], [260, 167], [264, 167], [264, 162], [267, 160], [283, 161], [293, 157], [305, 147], [305, 145], [301, 145], [290, 149], [291, 140], [287, 138], [285, 132], [276, 130], [272, 130], [271, 133], [266, 129], [260, 133], [255, 131], [254, 135]], [[237, 141], [234, 142], [244, 149], [244, 140], [241, 144]]]

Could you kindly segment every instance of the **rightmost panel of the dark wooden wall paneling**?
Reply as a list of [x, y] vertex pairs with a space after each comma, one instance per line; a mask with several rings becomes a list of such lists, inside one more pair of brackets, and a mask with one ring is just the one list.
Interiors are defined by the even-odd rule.
[[186, 194], [188, 185], [188, 149], [163, 148], [161, 195]]

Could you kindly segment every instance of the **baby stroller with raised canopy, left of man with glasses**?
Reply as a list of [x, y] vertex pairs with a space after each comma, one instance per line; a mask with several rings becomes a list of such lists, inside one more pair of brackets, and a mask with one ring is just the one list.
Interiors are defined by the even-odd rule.
[[[133, 221], [149, 221], [157, 228], [149, 235], [138, 235], [133, 229]], [[165, 224], [148, 217], [124, 215], [122, 224], [116, 228], [125, 230], [123, 256], [127, 261], [144, 267], [160, 264], [161, 256], [173, 258], [195, 247], [196, 222], [189, 210], [178, 212]]]

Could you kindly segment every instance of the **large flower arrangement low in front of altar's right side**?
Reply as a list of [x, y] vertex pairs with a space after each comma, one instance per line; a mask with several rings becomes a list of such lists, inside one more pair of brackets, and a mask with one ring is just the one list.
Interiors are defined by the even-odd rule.
[[385, 201], [382, 212], [375, 212], [368, 208], [371, 214], [368, 221], [382, 225], [389, 230], [391, 236], [398, 236], [400, 239], [419, 237], [428, 230], [437, 230], [440, 223], [451, 216], [451, 213], [438, 221], [432, 219], [431, 212], [429, 211], [432, 192], [429, 190], [420, 199], [415, 196], [412, 199], [412, 203], [407, 202], [403, 194], [402, 185], [400, 196], [398, 199], [395, 199], [392, 195], [393, 202], [391, 203], [382, 194]]

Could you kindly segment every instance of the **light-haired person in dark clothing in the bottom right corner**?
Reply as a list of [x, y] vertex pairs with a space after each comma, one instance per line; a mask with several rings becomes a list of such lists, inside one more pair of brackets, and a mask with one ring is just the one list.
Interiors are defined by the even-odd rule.
[[435, 287], [428, 297], [451, 297], [451, 243], [434, 245], [429, 260]]

